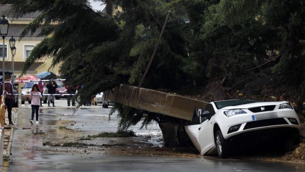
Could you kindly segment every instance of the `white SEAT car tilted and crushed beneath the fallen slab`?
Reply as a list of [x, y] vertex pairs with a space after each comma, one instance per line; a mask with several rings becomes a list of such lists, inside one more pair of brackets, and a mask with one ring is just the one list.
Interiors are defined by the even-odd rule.
[[300, 119], [285, 101], [225, 100], [211, 102], [205, 110], [196, 108], [193, 121], [184, 128], [201, 155], [217, 150], [219, 157], [226, 158], [231, 138], [273, 129], [285, 129], [290, 132], [288, 136], [298, 136]]

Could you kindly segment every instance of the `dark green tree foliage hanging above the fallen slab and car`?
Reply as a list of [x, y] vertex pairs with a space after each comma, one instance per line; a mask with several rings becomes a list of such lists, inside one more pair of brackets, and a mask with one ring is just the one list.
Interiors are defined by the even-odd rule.
[[[21, 34], [42, 27], [40, 34], [47, 36], [23, 72], [37, 60], [52, 58], [63, 78], [81, 86], [81, 104], [118, 84], [137, 85], [172, 10], [143, 87], [177, 89], [195, 81], [203, 86], [202, 81], [222, 75], [233, 84], [247, 69], [278, 55], [272, 71], [304, 84], [303, 0], [101, 1], [107, 14], [93, 11], [87, 0], [0, 0], [12, 4], [15, 17], [42, 12]], [[122, 11], [112, 15], [111, 6]], [[143, 125], [152, 120], [148, 112], [131, 107], [116, 104], [114, 110], [125, 131], [143, 117]]]

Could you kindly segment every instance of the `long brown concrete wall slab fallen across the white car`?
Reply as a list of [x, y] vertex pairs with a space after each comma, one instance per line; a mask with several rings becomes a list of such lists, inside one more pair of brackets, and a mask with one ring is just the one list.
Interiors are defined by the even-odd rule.
[[123, 84], [107, 91], [106, 94], [108, 99], [114, 103], [188, 121], [192, 120], [195, 107], [205, 109], [208, 103], [180, 95]]

